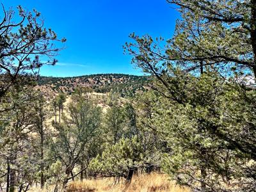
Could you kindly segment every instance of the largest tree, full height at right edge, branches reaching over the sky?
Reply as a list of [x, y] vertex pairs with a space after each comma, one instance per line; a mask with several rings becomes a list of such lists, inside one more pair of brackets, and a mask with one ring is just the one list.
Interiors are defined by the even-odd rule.
[[255, 2], [168, 2], [181, 17], [165, 49], [163, 38], [134, 33], [125, 45], [156, 77], [161, 97], [146, 122], [171, 149], [163, 168], [196, 191], [253, 191]]

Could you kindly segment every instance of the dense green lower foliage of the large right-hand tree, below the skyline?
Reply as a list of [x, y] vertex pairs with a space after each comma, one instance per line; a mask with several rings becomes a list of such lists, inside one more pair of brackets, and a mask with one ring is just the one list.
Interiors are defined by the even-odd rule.
[[169, 78], [173, 92], [156, 82], [165, 94], [148, 92], [141, 106], [143, 126], [167, 142], [163, 170], [199, 191], [225, 191], [228, 183], [230, 190], [254, 188], [255, 90], [214, 72], [195, 77], [175, 69]]

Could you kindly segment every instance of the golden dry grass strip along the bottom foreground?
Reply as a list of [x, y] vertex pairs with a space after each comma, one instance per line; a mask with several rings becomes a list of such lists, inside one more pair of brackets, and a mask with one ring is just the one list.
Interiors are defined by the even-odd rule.
[[189, 192], [188, 188], [182, 188], [175, 185], [174, 182], [168, 180], [168, 176], [164, 174], [152, 173], [150, 175], [139, 175], [132, 179], [131, 184], [125, 185], [124, 182], [114, 184], [114, 179], [97, 179], [70, 182], [68, 192], [84, 191], [84, 192], [153, 192], [153, 191], [173, 191], [173, 192]]

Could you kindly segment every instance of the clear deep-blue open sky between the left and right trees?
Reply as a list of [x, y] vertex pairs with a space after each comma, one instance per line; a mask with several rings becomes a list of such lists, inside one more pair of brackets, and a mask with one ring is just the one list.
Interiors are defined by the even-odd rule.
[[22, 5], [42, 13], [45, 26], [60, 38], [66, 49], [54, 67], [43, 67], [43, 76], [81, 76], [122, 73], [140, 75], [125, 55], [128, 36], [149, 34], [170, 38], [179, 17], [166, 0], [3, 0], [6, 9]]

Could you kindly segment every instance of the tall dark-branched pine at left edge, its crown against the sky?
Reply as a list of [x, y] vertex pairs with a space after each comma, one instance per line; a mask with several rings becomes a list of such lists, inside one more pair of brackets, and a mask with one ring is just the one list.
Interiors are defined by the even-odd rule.
[[7, 169], [6, 173], [1, 167], [6, 191], [28, 191], [36, 181], [40, 166], [42, 168], [32, 135], [35, 136], [36, 127], [42, 133], [41, 141], [44, 140], [42, 124], [45, 119], [40, 111], [42, 108], [34, 108], [41, 95], [34, 86], [40, 67], [56, 63], [53, 57], [62, 49], [57, 42], [65, 42], [65, 39], [58, 40], [52, 29], [44, 28], [39, 12], [27, 12], [21, 6], [17, 7], [17, 12], [12, 8], [6, 11], [3, 6], [0, 21], [0, 156]]

